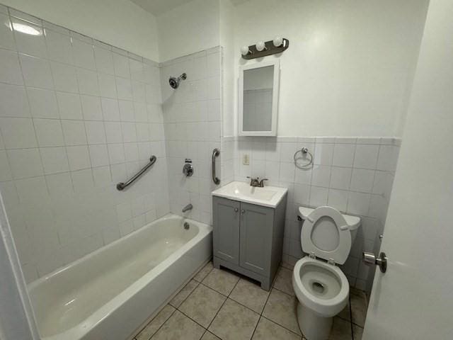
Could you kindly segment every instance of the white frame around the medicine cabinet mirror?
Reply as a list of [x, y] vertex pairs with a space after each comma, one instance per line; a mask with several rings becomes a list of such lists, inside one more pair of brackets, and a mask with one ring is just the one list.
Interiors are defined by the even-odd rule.
[[[243, 72], [247, 69], [260, 69], [261, 67], [274, 67], [274, 81], [272, 93], [272, 123], [269, 131], [244, 131], [243, 130]], [[280, 85], [280, 60], [276, 59], [270, 62], [256, 62], [239, 67], [239, 84], [238, 84], [238, 115], [239, 115], [239, 135], [240, 136], [276, 136], [277, 135], [277, 117], [278, 117], [278, 94]]]

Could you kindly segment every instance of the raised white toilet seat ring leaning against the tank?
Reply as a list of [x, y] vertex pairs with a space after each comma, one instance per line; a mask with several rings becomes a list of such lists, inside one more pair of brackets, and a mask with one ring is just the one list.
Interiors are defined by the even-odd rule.
[[[330, 217], [335, 222], [338, 231], [338, 246], [335, 249], [320, 249], [312, 239], [314, 229], [319, 227], [318, 221], [321, 217]], [[332, 237], [336, 237], [335, 234]], [[308, 254], [338, 264], [345, 263], [351, 249], [351, 233], [348, 224], [341, 213], [331, 207], [319, 207], [313, 210], [302, 225], [301, 232], [302, 250]]]

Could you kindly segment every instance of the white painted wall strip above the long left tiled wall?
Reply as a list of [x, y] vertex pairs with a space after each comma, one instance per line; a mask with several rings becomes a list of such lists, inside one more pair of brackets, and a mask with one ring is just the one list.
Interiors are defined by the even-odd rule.
[[25, 13], [159, 61], [156, 18], [125, 0], [1, 0]]

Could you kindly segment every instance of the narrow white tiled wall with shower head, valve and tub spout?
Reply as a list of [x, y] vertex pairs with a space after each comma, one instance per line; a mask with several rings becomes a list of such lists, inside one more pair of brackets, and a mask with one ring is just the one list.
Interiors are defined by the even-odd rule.
[[[211, 157], [220, 148], [222, 49], [214, 47], [161, 64], [162, 108], [168, 159], [168, 188], [171, 212], [211, 223], [211, 191], [216, 187], [211, 176]], [[187, 74], [174, 90], [169, 77]], [[185, 159], [191, 159], [193, 176], [183, 174]], [[217, 176], [220, 164], [217, 159]]]

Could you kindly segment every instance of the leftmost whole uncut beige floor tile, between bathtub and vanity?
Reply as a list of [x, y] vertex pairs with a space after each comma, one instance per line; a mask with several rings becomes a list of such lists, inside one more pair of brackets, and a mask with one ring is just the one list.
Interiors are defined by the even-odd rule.
[[208, 327], [225, 299], [222, 294], [204, 285], [198, 285], [180, 305], [179, 310], [203, 327]]

